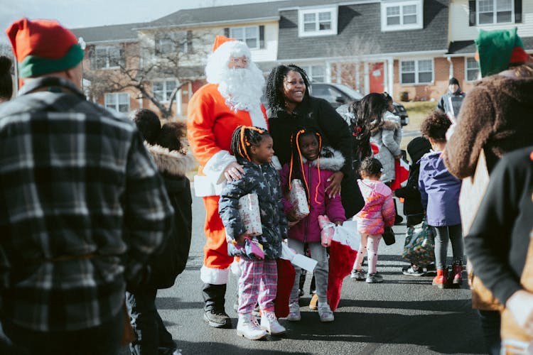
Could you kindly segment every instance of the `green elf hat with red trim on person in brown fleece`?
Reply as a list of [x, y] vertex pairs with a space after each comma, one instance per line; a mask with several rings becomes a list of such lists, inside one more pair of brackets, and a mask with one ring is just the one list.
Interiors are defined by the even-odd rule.
[[516, 27], [512, 30], [480, 30], [475, 46], [482, 77], [502, 72], [510, 64], [527, 62], [527, 53]]

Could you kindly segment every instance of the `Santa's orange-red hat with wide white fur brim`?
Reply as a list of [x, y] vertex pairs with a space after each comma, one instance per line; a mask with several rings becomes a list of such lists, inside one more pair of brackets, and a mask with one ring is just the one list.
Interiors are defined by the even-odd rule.
[[218, 83], [221, 68], [227, 67], [230, 57], [252, 58], [252, 54], [246, 43], [227, 38], [224, 35], [217, 35], [212, 46], [212, 53], [209, 55], [208, 64], [205, 66], [205, 75], [208, 82]]

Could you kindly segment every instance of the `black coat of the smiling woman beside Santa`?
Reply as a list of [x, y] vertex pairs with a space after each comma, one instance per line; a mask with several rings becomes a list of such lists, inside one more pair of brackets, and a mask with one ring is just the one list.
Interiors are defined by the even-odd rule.
[[343, 154], [345, 164], [341, 185], [341, 200], [346, 217], [352, 217], [365, 205], [357, 187], [352, 167], [352, 136], [348, 124], [331, 105], [318, 97], [304, 97], [292, 114], [285, 110], [269, 111], [269, 131], [274, 140], [274, 151], [281, 165], [291, 160], [291, 135], [301, 127], [321, 133], [322, 146], [330, 146]]

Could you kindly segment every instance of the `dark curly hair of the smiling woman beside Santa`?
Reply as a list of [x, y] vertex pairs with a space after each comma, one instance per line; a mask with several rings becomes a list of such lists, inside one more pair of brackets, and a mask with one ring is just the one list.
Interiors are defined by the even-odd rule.
[[285, 110], [285, 96], [281, 87], [283, 87], [283, 81], [289, 72], [300, 73], [303, 82], [306, 84], [304, 98], [309, 96], [309, 79], [306, 71], [294, 64], [278, 65], [271, 70], [269, 77], [266, 80], [265, 96], [271, 112]]

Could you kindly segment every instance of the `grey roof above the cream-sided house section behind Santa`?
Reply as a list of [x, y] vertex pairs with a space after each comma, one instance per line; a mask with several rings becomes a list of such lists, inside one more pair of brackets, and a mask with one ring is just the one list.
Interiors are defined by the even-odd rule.
[[146, 23], [145, 28], [168, 26], [205, 26], [217, 23], [238, 23], [252, 20], [277, 19], [279, 9], [294, 6], [335, 4], [334, 0], [269, 1], [253, 4], [183, 9]]

